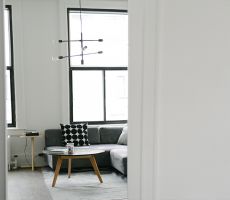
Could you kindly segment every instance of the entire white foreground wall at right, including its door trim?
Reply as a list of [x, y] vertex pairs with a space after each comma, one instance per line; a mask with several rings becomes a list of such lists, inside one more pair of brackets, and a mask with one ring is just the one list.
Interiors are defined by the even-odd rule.
[[129, 1], [129, 197], [230, 199], [230, 2], [156, 3]]

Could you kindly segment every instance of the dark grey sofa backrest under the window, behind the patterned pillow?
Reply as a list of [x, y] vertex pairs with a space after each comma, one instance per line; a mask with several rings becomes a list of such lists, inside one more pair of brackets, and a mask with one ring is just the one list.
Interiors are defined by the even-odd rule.
[[[116, 144], [123, 127], [88, 126], [90, 144]], [[45, 146], [63, 146], [61, 129], [45, 130]]]

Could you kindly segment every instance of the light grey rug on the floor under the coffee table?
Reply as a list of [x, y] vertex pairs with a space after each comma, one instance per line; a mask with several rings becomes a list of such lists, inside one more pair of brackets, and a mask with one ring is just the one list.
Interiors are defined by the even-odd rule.
[[54, 188], [54, 172], [43, 170], [45, 184], [54, 200], [127, 200], [127, 179], [115, 172], [101, 172], [100, 183], [94, 172], [61, 173]]

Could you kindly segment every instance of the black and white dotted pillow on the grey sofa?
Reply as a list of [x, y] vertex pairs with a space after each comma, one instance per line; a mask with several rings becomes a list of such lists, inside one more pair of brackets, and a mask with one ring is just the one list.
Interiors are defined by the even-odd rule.
[[62, 130], [62, 142], [74, 143], [74, 146], [88, 146], [88, 124], [60, 124]]

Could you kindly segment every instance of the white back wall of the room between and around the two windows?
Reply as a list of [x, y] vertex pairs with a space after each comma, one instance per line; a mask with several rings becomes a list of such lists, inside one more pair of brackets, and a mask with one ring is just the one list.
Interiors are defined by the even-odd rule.
[[[35, 140], [35, 154], [44, 148], [44, 130], [59, 128], [69, 122], [69, 80], [67, 60], [53, 61], [66, 55], [67, 7], [77, 7], [71, 0], [6, 0], [12, 5], [15, 58], [17, 127], [9, 134], [21, 134], [24, 129], [38, 130], [42, 137]], [[127, 1], [85, 0], [83, 7], [127, 8]], [[30, 161], [30, 141], [26, 151]], [[27, 165], [25, 139], [11, 139], [11, 154], [18, 155], [19, 165]], [[45, 165], [36, 157], [36, 165]]]

